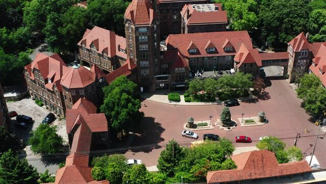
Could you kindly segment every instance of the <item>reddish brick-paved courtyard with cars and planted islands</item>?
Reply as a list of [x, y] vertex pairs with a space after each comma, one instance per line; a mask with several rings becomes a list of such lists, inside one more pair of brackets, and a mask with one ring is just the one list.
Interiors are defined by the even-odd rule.
[[[315, 135], [318, 127], [309, 121], [310, 116], [300, 107], [301, 100], [296, 97], [294, 90], [286, 80], [268, 80], [264, 96], [258, 101], [241, 102], [240, 106], [230, 107], [232, 119], [241, 118], [241, 113], [245, 113], [244, 118], [257, 117], [257, 113], [263, 110], [266, 113], [268, 123], [262, 126], [237, 126], [232, 131], [220, 130], [214, 126], [212, 130], [196, 131], [198, 140], [202, 140], [204, 133], [215, 133], [221, 137], [228, 137], [234, 142], [236, 135], [247, 135], [253, 139], [253, 143], [234, 143], [235, 147], [255, 146], [260, 136], [274, 135], [280, 137], [288, 146], [293, 146], [297, 133], [301, 137], [297, 141], [297, 146], [302, 149], [304, 155], [311, 154], [315, 144]], [[222, 105], [172, 105], [145, 100], [147, 107], [142, 106], [140, 110], [145, 113], [145, 117], [136, 130], [136, 139], [132, 145], [133, 149], [126, 152], [128, 158], [141, 159], [147, 166], [157, 165], [160, 152], [169, 140], [174, 139], [181, 145], [189, 146], [194, 141], [181, 136], [183, 125], [188, 117], [193, 117], [195, 121], [212, 121], [220, 118]], [[310, 132], [304, 133], [308, 129]], [[319, 137], [323, 138], [324, 131], [319, 131]], [[318, 139], [315, 155], [322, 167], [326, 166], [324, 150], [326, 141]]]

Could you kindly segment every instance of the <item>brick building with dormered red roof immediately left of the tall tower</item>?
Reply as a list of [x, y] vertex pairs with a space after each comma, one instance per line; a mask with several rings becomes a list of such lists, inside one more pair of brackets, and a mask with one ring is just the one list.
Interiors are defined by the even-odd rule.
[[96, 64], [106, 74], [123, 65], [127, 59], [126, 38], [97, 26], [87, 29], [77, 45], [81, 64], [89, 67]]

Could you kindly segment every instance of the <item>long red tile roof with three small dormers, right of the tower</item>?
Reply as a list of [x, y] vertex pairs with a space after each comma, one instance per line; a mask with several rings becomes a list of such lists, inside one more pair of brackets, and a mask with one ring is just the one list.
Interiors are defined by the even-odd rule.
[[[247, 31], [229, 31], [229, 32], [212, 32], [212, 33], [189, 33], [189, 34], [175, 34], [169, 35], [165, 42], [167, 49], [176, 49], [185, 57], [206, 57], [206, 56], [227, 56], [235, 55], [236, 52], [224, 51], [223, 44], [225, 40], [233, 45], [235, 51], [238, 51], [241, 43], [243, 42], [247, 48], [253, 48], [252, 41], [250, 40]], [[207, 53], [205, 50], [208, 40], [211, 40], [215, 45], [216, 53]], [[197, 49], [197, 54], [190, 55], [188, 53], [188, 45], [193, 42]]]

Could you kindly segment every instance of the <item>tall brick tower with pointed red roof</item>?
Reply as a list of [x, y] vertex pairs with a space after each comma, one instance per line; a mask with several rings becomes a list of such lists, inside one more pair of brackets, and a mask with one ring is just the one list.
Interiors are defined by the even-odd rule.
[[154, 91], [154, 76], [160, 73], [160, 24], [156, 1], [133, 0], [124, 13], [127, 58], [137, 65], [137, 83]]

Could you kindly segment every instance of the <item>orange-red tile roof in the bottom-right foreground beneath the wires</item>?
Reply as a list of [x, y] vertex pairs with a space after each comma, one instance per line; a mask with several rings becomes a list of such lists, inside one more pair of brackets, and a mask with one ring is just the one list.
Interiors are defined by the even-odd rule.
[[232, 156], [237, 169], [210, 171], [207, 183], [233, 182], [250, 179], [286, 176], [311, 172], [306, 160], [279, 164], [274, 153], [267, 150], [250, 151]]

